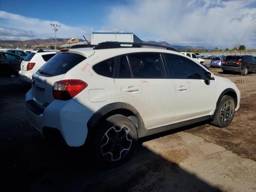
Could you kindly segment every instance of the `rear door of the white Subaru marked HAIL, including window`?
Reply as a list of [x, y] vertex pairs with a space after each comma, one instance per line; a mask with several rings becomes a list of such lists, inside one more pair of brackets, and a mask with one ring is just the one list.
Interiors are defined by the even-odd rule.
[[138, 110], [145, 127], [170, 124], [175, 117], [176, 92], [166, 78], [160, 53], [118, 57], [115, 84], [125, 102]]

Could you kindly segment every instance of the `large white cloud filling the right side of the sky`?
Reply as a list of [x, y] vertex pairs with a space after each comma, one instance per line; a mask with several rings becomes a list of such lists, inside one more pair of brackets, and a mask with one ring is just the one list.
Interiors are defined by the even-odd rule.
[[112, 28], [171, 44], [256, 48], [255, 0], [134, 0], [112, 7], [107, 20]]

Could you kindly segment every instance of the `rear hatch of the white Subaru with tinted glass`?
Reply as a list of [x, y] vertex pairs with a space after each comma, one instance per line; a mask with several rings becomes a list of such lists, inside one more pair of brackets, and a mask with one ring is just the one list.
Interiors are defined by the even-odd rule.
[[52, 89], [54, 83], [74, 66], [85, 60], [81, 54], [63, 52], [58, 53], [46, 62], [32, 77], [32, 97], [36, 104], [44, 109], [53, 100]]

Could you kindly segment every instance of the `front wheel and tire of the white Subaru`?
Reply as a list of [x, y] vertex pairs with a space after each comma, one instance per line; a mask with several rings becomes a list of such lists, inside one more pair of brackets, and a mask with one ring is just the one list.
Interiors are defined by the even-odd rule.
[[224, 95], [220, 100], [214, 119], [211, 124], [220, 128], [228, 126], [235, 114], [235, 101], [233, 97]]

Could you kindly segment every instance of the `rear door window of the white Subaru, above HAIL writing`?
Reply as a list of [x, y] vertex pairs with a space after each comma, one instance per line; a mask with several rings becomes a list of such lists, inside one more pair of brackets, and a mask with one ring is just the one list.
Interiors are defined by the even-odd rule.
[[128, 58], [134, 78], [164, 78], [159, 53], [132, 54]]

